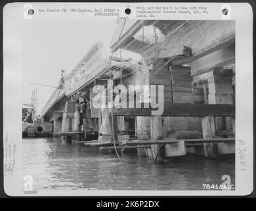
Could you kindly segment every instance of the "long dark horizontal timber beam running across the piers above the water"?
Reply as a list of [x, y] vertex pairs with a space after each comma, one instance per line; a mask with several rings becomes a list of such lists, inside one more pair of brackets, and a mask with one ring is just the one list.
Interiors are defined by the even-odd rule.
[[[152, 109], [113, 109], [113, 115], [120, 116], [151, 116]], [[225, 104], [167, 104], [164, 105], [162, 116], [169, 117], [205, 117], [212, 116], [235, 116], [235, 106]]]

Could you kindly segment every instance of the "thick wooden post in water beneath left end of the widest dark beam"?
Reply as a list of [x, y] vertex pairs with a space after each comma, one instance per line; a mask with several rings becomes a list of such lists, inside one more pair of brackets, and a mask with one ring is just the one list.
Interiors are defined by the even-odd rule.
[[[152, 116], [150, 122], [151, 140], [156, 141], [162, 139], [162, 126], [163, 118], [161, 116]], [[164, 161], [164, 148], [162, 144], [152, 144], [151, 145], [154, 160], [156, 162]]]

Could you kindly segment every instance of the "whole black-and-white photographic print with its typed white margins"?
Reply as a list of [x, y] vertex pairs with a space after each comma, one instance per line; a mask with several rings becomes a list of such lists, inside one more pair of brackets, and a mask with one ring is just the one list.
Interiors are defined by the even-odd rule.
[[18, 111], [4, 107], [4, 122], [15, 116], [20, 140], [4, 127], [3, 142], [5, 177], [18, 172], [21, 195], [238, 191], [253, 144], [237, 132], [251, 116], [237, 119], [241, 24], [230, 5], [207, 19], [207, 4], [165, 4], [20, 3], [21, 86], [10, 91], [14, 75], [4, 73], [4, 98], [18, 90], [20, 101]]

